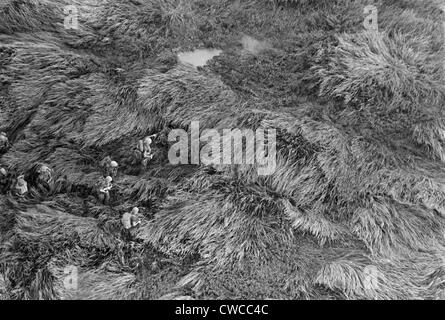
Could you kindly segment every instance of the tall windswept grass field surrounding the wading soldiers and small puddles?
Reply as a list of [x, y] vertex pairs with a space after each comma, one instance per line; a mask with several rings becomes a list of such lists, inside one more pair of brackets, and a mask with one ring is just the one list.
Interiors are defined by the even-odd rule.
[[[377, 1], [378, 32], [371, 0], [0, 3], [0, 167], [57, 180], [0, 194], [0, 299], [445, 297], [444, 1]], [[195, 48], [223, 53], [178, 61]], [[275, 128], [275, 173], [171, 165], [165, 135], [134, 166], [138, 139], [191, 121]]]

